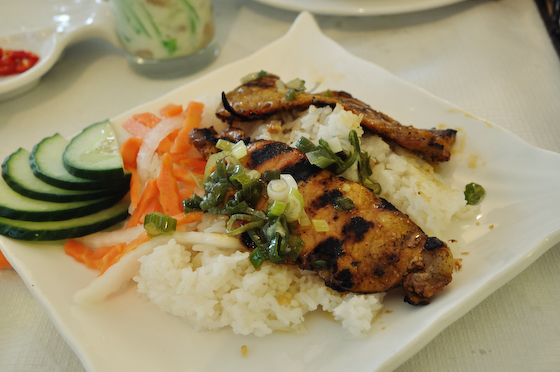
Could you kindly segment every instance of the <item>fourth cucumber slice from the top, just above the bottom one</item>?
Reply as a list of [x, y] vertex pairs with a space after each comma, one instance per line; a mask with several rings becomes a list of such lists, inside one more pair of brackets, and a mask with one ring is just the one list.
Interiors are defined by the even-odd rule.
[[106, 198], [53, 203], [18, 194], [0, 178], [0, 217], [25, 221], [60, 221], [99, 212], [117, 203], [125, 193]]

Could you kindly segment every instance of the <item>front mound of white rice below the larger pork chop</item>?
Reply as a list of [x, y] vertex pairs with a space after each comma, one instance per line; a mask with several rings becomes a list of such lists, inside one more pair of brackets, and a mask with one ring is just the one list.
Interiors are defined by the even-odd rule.
[[[225, 221], [208, 214], [197, 230], [225, 232]], [[321, 308], [360, 335], [382, 308], [384, 294], [341, 294], [315, 273], [292, 265], [265, 262], [255, 270], [249, 252], [171, 239], [139, 261], [138, 291], [197, 330], [231, 326], [236, 334], [256, 336], [303, 332], [305, 315]]]

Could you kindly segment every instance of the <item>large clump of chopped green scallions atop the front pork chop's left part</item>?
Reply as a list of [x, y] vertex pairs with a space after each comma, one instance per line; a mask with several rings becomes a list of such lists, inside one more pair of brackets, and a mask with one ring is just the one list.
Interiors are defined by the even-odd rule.
[[288, 257], [295, 261], [304, 246], [301, 239], [291, 235], [288, 226], [288, 221], [297, 221], [303, 210], [303, 198], [297, 189], [288, 194], [288, 203], [275, 201], [267, 215], [254, 208], [266, 182], [280, 179], [280, 171], [257, 173], [252, 177], [245, 167], [229, 156], [228, 150], [212, 155], [208, 162], [212, 163], [207, 165], [202, 183], [205, 194], [184, 200], [184, 211], [231, 215], [226, 231], [229, 235], [246, 233], [250, 237], [255, 245], [250, 261], [255, 268], [265, 260], [279, 264]]

